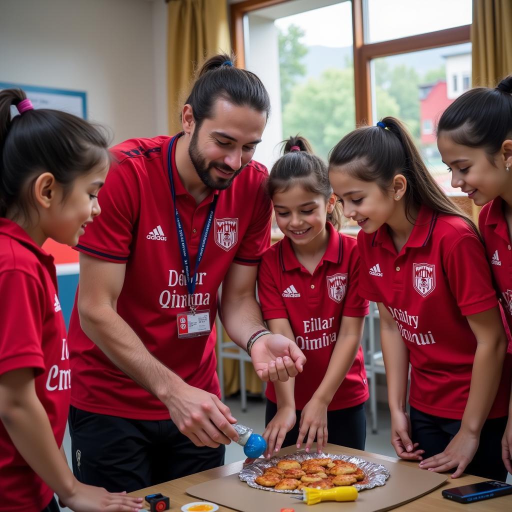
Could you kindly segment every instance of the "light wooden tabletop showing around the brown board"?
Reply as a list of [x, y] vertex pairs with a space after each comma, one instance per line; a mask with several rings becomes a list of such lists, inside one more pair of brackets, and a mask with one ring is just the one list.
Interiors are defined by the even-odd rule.
[[[291, 446], [282, 450], [279, 455], [292, 453], [295, 447]], [[343, 446], [334, 444], [327, 444], [325, 453], [331, 454], [346, 454], [346, 455], [359, 455], [364, 457], [374, 457], [384, 461], [398, 462], [398, 464], [417, 465], [417, 462], [407, 462], [385, 455], [378, 455], [370, 452], [361, 452]], [[243, 461], [233, 462], [213, 470], [203, 471], [194, 475], [189, 475], [183, 478], [177, 478], [169, 482], [161, 483], [153, 487], [138, 490], [130, 493], [133, 496], [144, 497], [152, 493], [162, 493], [164, 496], [170, 498], [171, 511], [180, 510], [182, 505], [193, 501], [200, 501], [198, 498], [185, 494], [185, 489], [192, 485], [206, 482], [208, 480], [215, 480], [217, 478], [239, 473], [242, 469]], [[483, 482], [485, 478], [475, 477], [473, 475], [463, 475], [455, 480], [449, 479], [446, 483], [435, 489], [432, 493], [426, 494], [414, 501], [406, 503], [405, 505], [394, 508], [397, 512], [508, 512], [512, 510], [512, 495], [502, 496], [500, 498], [493, 498], [484, 500], [478, 503], [462, 504], [454, 501], [447, 500], [441, 496], [441, 490], [449, 489], [450, 487], [458, 487], [460, 485], [467, 485], [476, 482]], [[232, 508], [219, 506], [219, 512], [232, 512]], [[311, 509], [314, 512], [314, 508]]]

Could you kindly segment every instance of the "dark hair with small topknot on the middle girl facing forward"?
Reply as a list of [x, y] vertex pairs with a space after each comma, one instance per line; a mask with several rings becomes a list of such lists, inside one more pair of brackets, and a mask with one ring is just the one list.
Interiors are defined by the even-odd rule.
[[[272, 166], [267, 181], [270, 198], [272, 199], [277, 191], [286, 192], [298, 182], [306, 190], [320, 194], [328, 201], [333, 191], [326, 163], [313, 155], [311, 145], [304, 137], [296, 135], [284, 140], [282, 144], [283, 156]], [[337, 202], [332, 213], [327, 215], [327, 220], [337, 229], [342, 226], [342, 214]]]

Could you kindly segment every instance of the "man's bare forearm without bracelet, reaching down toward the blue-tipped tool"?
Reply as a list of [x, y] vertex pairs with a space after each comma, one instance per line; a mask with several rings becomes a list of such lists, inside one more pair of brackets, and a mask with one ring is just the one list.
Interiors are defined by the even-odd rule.
[[167, 400], [183, 380], [144, 346], [134, 330], [109, 305], [80, 311], [83, 331], [121, 371], [159, 400]]

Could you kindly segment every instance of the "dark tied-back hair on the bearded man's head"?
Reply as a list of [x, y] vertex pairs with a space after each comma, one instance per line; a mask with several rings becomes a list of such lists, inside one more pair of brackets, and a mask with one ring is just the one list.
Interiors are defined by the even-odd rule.
[[262, 81], [254, 73], [234, 67], [234, 55], [226, 53], [204, 62], [185, 101], [191, 105], [198, 127], [204, 119], [212, 117], [214, 105], [220, 98], [266, 112], [267, 119], [270, 114], [270, 97]]

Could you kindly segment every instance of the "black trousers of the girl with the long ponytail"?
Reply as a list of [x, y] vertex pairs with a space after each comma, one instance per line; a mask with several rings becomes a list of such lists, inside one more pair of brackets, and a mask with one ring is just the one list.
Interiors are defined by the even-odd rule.
[[[460, 420], [439, 418], [414, 407], [411, 407], [410, 416], [412, 441], [419, 443], [419, 449], [425, 451], [423, 459], [443, 452], [460, 429]], [[506, 480], [507, 470], [501, 460], [501, 438], [506, 424], [506, 416], [485, 421], [478, 450], [464, 473], [501, 482]]]

